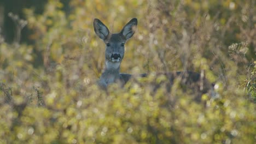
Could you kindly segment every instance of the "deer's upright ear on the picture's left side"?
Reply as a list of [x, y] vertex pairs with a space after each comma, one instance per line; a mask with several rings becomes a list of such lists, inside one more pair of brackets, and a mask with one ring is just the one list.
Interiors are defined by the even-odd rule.
[[108, 37], [108, 28], [99, 20], [94, 19], [94, 31], [101, 39], [105, 40]]

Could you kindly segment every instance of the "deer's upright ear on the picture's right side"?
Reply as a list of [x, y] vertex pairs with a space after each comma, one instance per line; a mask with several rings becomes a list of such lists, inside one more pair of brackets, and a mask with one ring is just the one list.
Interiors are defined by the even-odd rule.
[[130, 39], [132, 35], [135, 33], [137, 29], [137, 23], [138, 21], [136, 18], [131, 19], [120, 32], [126, 40]]

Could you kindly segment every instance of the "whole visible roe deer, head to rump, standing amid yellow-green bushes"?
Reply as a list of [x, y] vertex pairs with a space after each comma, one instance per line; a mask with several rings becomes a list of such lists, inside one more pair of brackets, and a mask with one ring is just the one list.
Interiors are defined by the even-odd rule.
[[[98, 81], [98, 85], [107, 88], [110, 83], [120, 82], [124, 85], [132, 75], [120, 73], [120, 64], [124, 58], [125, 43], [132, 37], [137, 29], [137, 19], [130, 20], [119, 33], [111, 34], [108, 28], [98, 19], [94, 20], [94, 31], [106, 44], [105, 69]], [[174, 79], [181, 78], [181, 83], [191, 88], [196, 88], [202, 93], [206, 93], [212, 86], [205, 80], [203, 74], [193, 71], [178, 71], [173, 73], [164, 73], [170, 80], [170, 86]], [[140, 74], [145, 77], [147, 74]], [[158, 86], [156, 86], [158, 87]]]

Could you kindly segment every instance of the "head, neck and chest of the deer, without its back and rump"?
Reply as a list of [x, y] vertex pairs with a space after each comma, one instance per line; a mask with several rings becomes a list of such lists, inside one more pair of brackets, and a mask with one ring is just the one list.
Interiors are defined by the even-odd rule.
[[101, 87], [106, 88], [109, 83], [126, 83], [131, 75], [120, 74], [120, 64], [124, 58], [124, 45], [132, 37], [137, 28], [137, 19], [129, 21], [119, 33], [111, 34], [108, 28], [98, 19], [94, 20], [94, 31], [106, 44], [105, 69], [98, 81]]

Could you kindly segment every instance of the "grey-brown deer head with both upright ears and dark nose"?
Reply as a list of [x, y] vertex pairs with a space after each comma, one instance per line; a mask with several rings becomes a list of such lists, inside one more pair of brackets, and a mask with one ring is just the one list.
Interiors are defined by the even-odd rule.
[[108, 28], [98, 19], [94, 20], [94, 31], [106, 44], [107, 69], [119, 69], [124, 58], [124, 45], [132, 37], [137, 28], [137, 19], [129, 21], [119, 33], [110, 34]]

